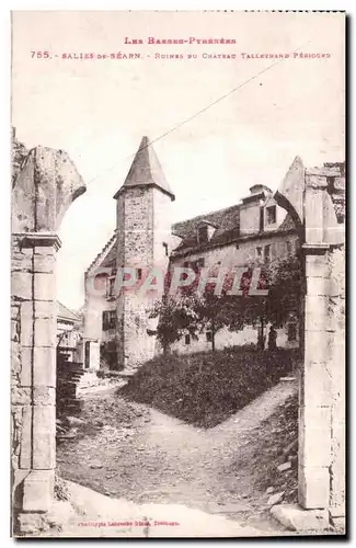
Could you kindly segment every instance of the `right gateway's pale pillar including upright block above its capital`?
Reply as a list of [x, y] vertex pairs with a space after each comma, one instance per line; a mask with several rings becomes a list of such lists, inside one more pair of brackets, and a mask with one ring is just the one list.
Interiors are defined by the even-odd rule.
[[[331, 311], [335, 284], [332, 283], [330, 258], [335, 246], [343, 244], [343, 235], [328, 190], [330, 179], [338, 174], [337, 170], [325, 168], [306, 171], [306, 241], [302, 249], [307, 293], [299, 402], [299, 503], [308, 510], [330, 509], [335, 442], [332, 413], [336, 377], [333, 370], [344, 368], [344, 363], [334, 354], [338, 329]], [[343, 477], [340, 479], [344, 481]]]

